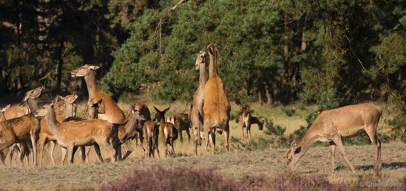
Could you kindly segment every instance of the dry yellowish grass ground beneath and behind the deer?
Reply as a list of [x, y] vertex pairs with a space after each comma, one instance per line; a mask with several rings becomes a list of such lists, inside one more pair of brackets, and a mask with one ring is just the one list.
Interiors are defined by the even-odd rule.
[[[139, 101], [146, 103], [150, 108], [151, 114], [154, 115], [153, 105], [158, 109], [164, 109], [172, 106], [166, 116], [173, 113], [181, 113], [187, 102], [154, 102], [147, 96], [129, 97], [121, 99], [119, 106], [127, 113], [129, 103]], [[79, 102], [78, 116], [84, 102]], [[232, 104], [232, 112], [237, 112], [239, 108]], [[314, 107], [314, 108], [312, 108]], [[298, 129], [300, 125], [306, 125], [304, 114], [315, 109], [311, 106], [307, 111], [297, 111], [292, 117], [286, 117], [285, 114], [276, 107], [261, 106], [253, 104], [252, 109], [263, 117], [274, 119], [276, 124], [281, 124], [287, 128], [286, 134]], [[255, 114], [253, 114], [255, 115]], [[383, 116], [385, 117], [385, 116]], [[260, 138], [265, 140], [269, 137], [259, 131], [257, 126], [252, 128], [253, 143], [258, 143]], [[129, 159], [119, 163], [100, 164], [98, 158], [92, 149], [90, 152], [91, 164], [81, 164], [78, 154], [75, 155], [75, 164], [60, 166], [60, 150], [58, 146], [54, 151], [54, 158], [57, 166], [53, 167], [46, 151], [44, 153], [43, 167], [20, 167], [15, 161], [9, 164], [6, 158], [6, 168], [0, 167], [0, 188], [8, 190], [69, 190], [72, 188], [100, 187], [109, 182], [116, 182], [127, 176], [133, 169], [150, 169], [150, 168], [170, 168], [170, 167], [193, 167], [197, 169], [215, 169], [225, 177], [233, 179], [242, 179], [252, 173], [264, 173], [273, 175], [282, 172], [286, 168], [286, 152], [288, 148], [274, 148], [272, 145], [250, 147], [248, 141], [241, 139], [241, 130], [235, 121], [230, 122], [230, 137], [234, 141], [230, 142], [230, 152], [224, 153], [224, 137], [217, 135], [216, 154], [207, 154], [201, 156], [204, 147], [198, 148], [198, 156], [193, 155], [193, 145], [187, 142], [186, 133], [183, 133], [184, 143], [178, 140], [175, 144], [175, 152], [179, 157], [154, 158], [145, 160], [142, 158], [141, 148], [133, 146], [134, 152]], [[160, 141], [160, 140], [159, 140]], [[298, 140], [297, 140], [298, 141]], [[203, 141], [205, 143], [205, 141]], [[134, 143], [132, 143], [133, 145]], [[259, 144], [259, 143], [258, 143]], [[163, 146], [159, 144], [161, 157]], [[304, 155], [296, 171], [304, 175], [320, 174], [326, 176], [332, 182], [345, 182], [346, 184], [356, 185], [359, 181], [380, 181], [396, 182], [400, 181], [406, 175], [406, 144], [392, 142], [382, 144], [382, 163], [383, 169], [380, 174], [376, 174], [372, 168], [374, 163], [374, 146], [346, 146], [346, 153], [349, 160], [357, 169], [352, 173], [343, 157], [337, 151], [335, 154], [335, 172], [329, 172], [329, 149], [328, 147], [312, 147]], [[108, 158], [108, 154], [102, 148], [102, 154]], [[30, 162], [31, 163], [31, 162]], [[28, 186], [29, 185], [29, 186]], [[406, 189], [406, 187], [405, 187]]]

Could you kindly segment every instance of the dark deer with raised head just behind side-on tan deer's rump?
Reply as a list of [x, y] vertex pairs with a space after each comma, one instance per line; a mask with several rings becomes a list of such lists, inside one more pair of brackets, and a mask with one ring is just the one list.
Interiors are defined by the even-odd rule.
[[[146, 117], [141, 114], [141, 112], [138, 111], [132, 104], [130, 104], [130, 111], [131, 112], [128, 114], [128, 120], [126, 122], [124, 122], [123, 124], [114, 124], [113, 132], [111, 135], [111, 142], [113, 144], [114, 150], [116, 150], [115, 156], [118, 157], [119, 161], [121, 161], [121, 144], [125, 143], [127, 141], [128, 134], [134, 131], [134, 126], [136, 125], [137, 120], [146, 119]], [[130, 145], [127, 146], [130, 148], [131, 151], [133, 150]], [[128, 155], [127, 153], [126, 156], [131, 154], [131, 152], [129, 152]]]

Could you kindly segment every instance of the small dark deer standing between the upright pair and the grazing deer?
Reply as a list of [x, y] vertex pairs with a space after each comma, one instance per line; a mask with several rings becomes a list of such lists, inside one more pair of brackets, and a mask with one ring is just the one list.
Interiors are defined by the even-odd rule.
[[253, 117], [250, 113], [250, 108], [245, 108], [240, 110], [240, 128], [244, 139], [244, 128], [247, 131], [247, 138], [248, 140], [251, 139], [251, 125], [258, 124], [258, 129], [262, 131], [263, 123], [265, 122], [264, 119], [258, 115]]

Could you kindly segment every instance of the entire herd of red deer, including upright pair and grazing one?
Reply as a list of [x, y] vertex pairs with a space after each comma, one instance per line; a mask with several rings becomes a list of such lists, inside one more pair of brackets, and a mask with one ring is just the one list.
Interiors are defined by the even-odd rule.
[[[95, 70], [99, 66], [85, 64], [71, 72], [72, 77], [84, 77], [89, 92], [88, 103], [83, 110], [85, 118], [76, 117], [77, 106], [74, 104], [78, 98], [76, 93], [61, 97], [57, 95], [50, 103], [39, 107], [37, 98], [44, 86], [29, 90], [25, 93], [20, 104], [7, 105], [0, 108], [0, 163], [5, 166], [5, 158], [10, 162], [14, 154], [19, 156], [20, 164], [31, 155], [34, 166], [37, 166], [37, 141], [40, 148], [40, 165], [42, 166], [44, 146], [49, 142], [51, 162], [55, 165], [53, 150], [56, 143], [62, 153], [62, 164], [67, 154], [68, 163], [73, 163], [73, 156], [80, 148], [82, 162], [89, 163], [89, 152], [93, 145], [100, 162], [104, 162], [100, 147], [110, 154], [111, 161], [125, 160], [133, 151], [130, 140], [136, 139], [140, 144], [145, 158], [155, 157], [155, 152], [160, 157], [158, 137], [164, 147], [165, 156], [175, 153], [175, 140], [180, 137], [183, 142], [182, 131], [186, 131], [188, 142], [192, 131], [194, 153], [201, 146], [201, 139], [206, 140], [204, 154], [209, 143], [212, 153], [215, 151], [216, 130], [224, 134], [226, 151], [229, 151], [230, 135], [230, 103], [227, 99], [225, 85], [218, 75], [217, 59], [219, 47], [210, 44], [208, 47], [210, 57], [209, 75], [206, 64], [205, 51], [197, 54], [195, 69], [199, 70], [199, 86], [193, 95], [193, 102], [189, 103], [181, 114], [168, 116], [154, 107], [156, 114], [151, 120], [148, 107], [142, 103], [130, 104], [127, 115], [113, 101], [113, 99], [100, 89], [96, 82]], [[59, 100], [59, 101], [58, 101]], [[287, 170], [295, 170], [297, 163], [317, 141], [329, 142], [331, 152], [331, 171], [334, 171], [335, 146], [338, 147], [349, 168], [354, 171], [344, 152], [342, 138], [355, 137], [366, 133], [375, 145], [375, 169], [381, 169], [381, 142], [377, 138], [377, 125], [382, 115], [382, 110], [372, 104], [350, 105], [341, 108], [323, 111], [310, 126], [308, 132], [297, 144], [293, 140], [291, 148], [286, 155]], [[251, 116], [249, 108], [241, 109], [239, 121], [242, 137], [251, 139], [251, 125], [257, 124], [262, 130], [264, 119]], [[143, 146], [145, 138], [146, 148]], [[123, 150], [122, 150], [123, 149]], [[31, 154], [32, 153], [32, 154]]]

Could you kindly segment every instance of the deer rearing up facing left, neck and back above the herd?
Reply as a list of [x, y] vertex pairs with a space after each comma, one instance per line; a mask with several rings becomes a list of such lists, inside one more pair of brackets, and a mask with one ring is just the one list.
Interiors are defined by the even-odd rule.
[[100, 89], [96, 82], [96, 72], [99, 66], [85, 64], [82, 67], [71, 72], [72, 77], [84, 76], [87, 90], [89, 91], [89, 100], [100, 100], [104, 98], [103, 103], [98, 110], [98, 118], [107, 120], [111, 123], [121, 124], [125, 122], [123, 111], [117, 106], [113, 99], [103, 90]]

